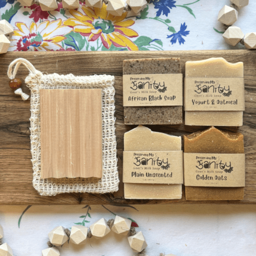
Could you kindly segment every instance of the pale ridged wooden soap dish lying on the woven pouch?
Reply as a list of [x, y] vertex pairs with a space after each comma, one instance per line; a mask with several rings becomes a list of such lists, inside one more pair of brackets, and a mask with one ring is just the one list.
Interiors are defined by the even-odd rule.
[[41, 178], [102, 177], [101, 89], [40, 90]]

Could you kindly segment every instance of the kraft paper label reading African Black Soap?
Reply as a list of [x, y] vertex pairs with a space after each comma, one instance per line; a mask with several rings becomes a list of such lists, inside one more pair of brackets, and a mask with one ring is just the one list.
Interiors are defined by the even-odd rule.
[[123, 106], [182, 106], [182, 74], [123, 75]]

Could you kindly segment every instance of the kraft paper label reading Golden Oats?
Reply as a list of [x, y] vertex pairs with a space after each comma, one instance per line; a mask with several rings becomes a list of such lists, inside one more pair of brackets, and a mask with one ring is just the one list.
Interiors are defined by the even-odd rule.
[[184, 153], [184, 185], [244, 187], [245, 154]]

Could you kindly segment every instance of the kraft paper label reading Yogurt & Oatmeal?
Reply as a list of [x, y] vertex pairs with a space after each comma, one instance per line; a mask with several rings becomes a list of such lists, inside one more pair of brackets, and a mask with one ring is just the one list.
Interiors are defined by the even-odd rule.
[[244, 78], [188, 77], [184, 88], [185, 111], [244, 111]]

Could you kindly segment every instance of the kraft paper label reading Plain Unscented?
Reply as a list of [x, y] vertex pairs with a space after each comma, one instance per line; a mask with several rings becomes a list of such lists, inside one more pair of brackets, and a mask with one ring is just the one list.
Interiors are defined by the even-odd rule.
[[183, 152], [124, 151], [123, 182], [183, 184]]

